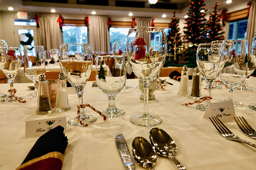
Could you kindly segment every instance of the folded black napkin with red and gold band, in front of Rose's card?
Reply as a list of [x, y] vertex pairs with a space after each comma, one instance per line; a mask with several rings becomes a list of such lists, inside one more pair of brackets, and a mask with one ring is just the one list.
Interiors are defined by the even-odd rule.
[[22, 165], [16, 170], [61, 170], [63, 154], [68, 145], [67, 136], [63, 131], [62, 126], [57, 126], [39, 137]]

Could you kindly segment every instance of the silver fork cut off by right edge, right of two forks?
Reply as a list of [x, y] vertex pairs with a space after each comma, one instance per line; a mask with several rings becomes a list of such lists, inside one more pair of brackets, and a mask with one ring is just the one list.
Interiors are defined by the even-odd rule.
[[[239, 120], [240, 119], [240, 120]], [[250, 124], [244, 119], [244, 117], [234, 117], [234, 120], [236, 121], [238, 127], [243, 131], [243, 133], [253, 139], [256, 139], [256, 132], [255, 130], [250, 126]]]

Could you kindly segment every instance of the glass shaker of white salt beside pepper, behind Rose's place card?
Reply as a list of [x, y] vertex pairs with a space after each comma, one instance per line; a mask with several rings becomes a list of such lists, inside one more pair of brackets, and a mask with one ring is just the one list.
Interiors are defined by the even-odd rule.
[[70, 110], [68, 93], [67, 93], [67, 83], [64, 74], [59, 73], [59, 79], [57, 80], [57, 95], [56, 95], [56, 104], [55, 111], [63, 112]]

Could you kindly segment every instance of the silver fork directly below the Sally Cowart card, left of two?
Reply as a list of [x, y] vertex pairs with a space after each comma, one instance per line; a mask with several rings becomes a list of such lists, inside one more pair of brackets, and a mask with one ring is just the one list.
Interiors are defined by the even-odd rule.
[[[210, 117], [209, 117], [210, 118]], [[212, 119], [211, 119], [212, 118]], [[240, 139], [240, 137], [238, 137], [237, 135], [233, 134], [222, 122], [221, 120], [219, 120], [218, 118], [211, 117], [210, 120], [212, 121], [214, 127], [217, 129], [217, 131], [225, 138], [228, 140], [233, 140], [233, 141], [237, 141], [237, 142], [243, 142], [246, 143], [248, 145], [253, 146], [254, 148], [256, 148], [256, 145], [251, 143], [251, 142], [247, 142], [245, 140]], [[215, 121], [215, 120], [216, 121]]]

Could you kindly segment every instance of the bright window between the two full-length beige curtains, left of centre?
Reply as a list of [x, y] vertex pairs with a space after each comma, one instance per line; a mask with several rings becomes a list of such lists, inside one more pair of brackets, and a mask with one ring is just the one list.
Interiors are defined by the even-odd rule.
[[62, 35], [64, 43], [88, 43], [87, 27], [63, 26]]

